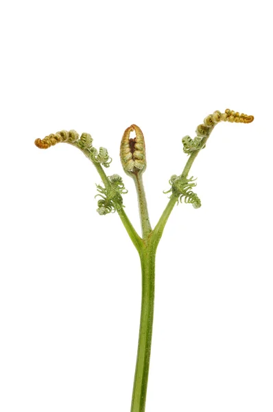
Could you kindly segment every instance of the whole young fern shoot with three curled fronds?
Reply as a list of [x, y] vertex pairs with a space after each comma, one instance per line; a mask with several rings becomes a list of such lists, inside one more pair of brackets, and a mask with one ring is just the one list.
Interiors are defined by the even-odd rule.
[[[137, 189], [139, 199], [139, 214], [141, 219], [142, 237], [132, 226], [128, 219], [123, 205], [123, 194], [127, 193], [121, 176], [112, 174], [107, 176], [104, 168], [108, 168], [112, 159], [108, 155], [106, 148], [97, 150], [93, 147], [93, 139], [88, 133], [81, 136], [70, 130], [62, 130], [55, 135], [49, 135], [45, 139], [36, 139], [35, 144], [38, 148], [49, 148], [57, 143], [65, 142], [82, 150], [84, 155], [91, 160], [103, 185], [97, 185], [98, 194], [95, 196], [97, 201], [97, 212], [106, 215], [110, 212], [119, 214], [130, 239], [136, 247], [141, 260], [142, 271], [142, 301], [141, 301], [141, 321], [139, 330], [139, 347], [137, 352], [137, 365], [134, 376], [134, 388], [132, 393], [131, 412], [145, 411], [145, 399], [147, 393], [147, 380], [150, 365], [150, 352], [152, 343], [152, 323], [154, 316], [154, 282], [155, 282], [155, 259], [156, 249], [161, 240], [164, 227], [171, 214], [174, 205], [179, 202], [191, 203], [193, 207], [201, 206], [200, 198], [193, 192], [195, 179], [188, 177], [193, 161], [200, 150], [206, 146], [206, 142], [211, 135], [215, 125], [219, 122], [250, 123], [253, 116], [235, 113], [226, 109], [225, 113], [215, 111], [204, 119], [196, 129], [196, 137], [186, 136], [182, 139], [183, 150], [189, 156], [185, 168], [180, 175], [174, 174], [169, 179], [170, 188], [165, 193], [169, 194], [169, 202], [158, 220], [157, 225], [152, 229], [148, 214], [147, 201], [143, 186], [142, 175], [146, 168], [145, 141], [141, 129], [132, 124], [123, 133], [121, 139], [120, 157], [124, 172], [132, 177]], [[130, 137], [134, 132], [135, 137]], [[104, 166], [104, 168], [102, 167]]]

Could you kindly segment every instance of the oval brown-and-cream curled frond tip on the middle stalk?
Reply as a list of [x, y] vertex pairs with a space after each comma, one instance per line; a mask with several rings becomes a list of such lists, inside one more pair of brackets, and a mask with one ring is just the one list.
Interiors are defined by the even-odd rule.
[[[130, 137], [130, 133], [135, 132], [135, 137]], [[121, 165], [124, 172], [129, 176], [143, 173], [146, 169], [146, 153], [144, 136], [136, 124], [128, 127], [123, 133], [120, 147]]]

